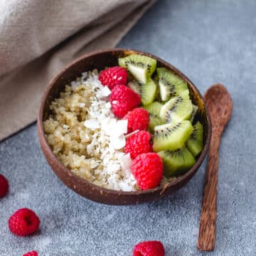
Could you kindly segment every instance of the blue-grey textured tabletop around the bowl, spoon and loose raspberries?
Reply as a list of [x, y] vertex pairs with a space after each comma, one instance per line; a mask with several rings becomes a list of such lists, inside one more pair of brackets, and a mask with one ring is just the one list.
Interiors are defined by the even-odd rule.
[[[222, 82], [233, 117], [220, 147], [215, 252], [198, 252], [203, 164], [180, 191], [139, 206], [104, 206], [63, 186], [46, 164], [36, 125], [0, 144], [0, 173], [11, 190], [0, 202], [0, 255], [132, 255], [141, 240], [161, 240], [166, 255], [256, 255], [256, 1], [159, 1], [119, 43], [176, 65], [201, 92]], [[17, 238], [9, 215], [28, 207], [36, 235]]]

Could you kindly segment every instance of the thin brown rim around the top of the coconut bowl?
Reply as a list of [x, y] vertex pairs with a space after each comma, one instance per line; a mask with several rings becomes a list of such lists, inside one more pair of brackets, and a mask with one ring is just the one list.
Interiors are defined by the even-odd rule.
[[[57, 156], [55, 156], [55, 154], [53, 154], [53, 151], [50, 148], [50, 145], [48, 144], [48, 142], [46, 140], [46, 135], [45, 135], [44, 129], [43, 129], [43, 110], [44, 110], [44, 105], [46, 103], [46, 98], [48, 97], [49, 91], [50, 91], [51, 87], [53, 87], [53, 85], [55, 85], [56, 80], [58, 80], [58, 78], [60, 78], [61, 75], [63, 75], [63, 73], [65, 73], [69, 68], [71, 68], [73, 65], [80, 62], [81, 60], [84, 60], [85, 58], [89, 58], [92, 55], [99, 55], [99, 54], [102, 54], [102, 53], [109, 53], [109, 52], [115, 52], [115, 51], [124, 51], [124, 52], [127, 52], [127, 53], [131, 52], [131, 53], [146, 55], [146, 56], [149, 56], [151, 58], [156, 59], [159, 63], [163, 63], [164, 65], [168, 66], [171, 70], [174, 70], [174, 72], [176, 74], [178, 74], [181, 78], [186, 80], [186, 82], [188, 83], [188, 86], [193, 87], [193, 90], [195, 90], [198, 93], [198, 95], [201, 98], [201, 100], [203, 101], [203, 105], [206, 109], [206, 119], [208, 119], [208, 136], [206, 138], [206, 143], [204, 144], [203, 151], [201, 152], [200, 156], [196, 160], [196, 164], [194, 164], [193, 167], [186, 172], [186, 174], [183, 174], [182, 176], [179, 176], [174, 181], [170, 181], [169, 183], [164, 184], [164, 186], [157, 186], [156, 188], [151, 188], [151, 189], [142, 190], [142, 191], [117, 191], [117, 190], [113, 190], [113, 189], [110, 189], [110, 188], [104, 188], [104, 187], [101, 187], [101, 186], [97, 186], [94, 183], [91, 183], [90, 181], [87, 181], [85, 178], [81, 178], [80, 176], [74, 174], [73, 171], [71, 171], [66, 166], [64, 166], [64, 164], [57, 158]], [[90, 53], [86, 53], [86, 54], [80, 56], [79, 58], [76, 58], [72, 62], [65, 65], [64, 68], [62, 68], [50, 80], [50, 82], [48, 82], [48, 85], [46, 86], [46, 89], [43, 92], [43, 96], [41, 98], [41, 102], [40, 102], [40, 106], [39, 106], [37, 124], [38, 124], [38, 137], [40, 137], [40, 140], [43, 140], [40, 143], [44, 144], [45, 150], [48, 152], [48, 154], [51, 155], [51, 157], [56, 162], [56, 164], [58, 164], [58, 166], [61, 166], [61, 168], [63, 170], [68, 172], [68, 175], [70, 177], [78, 179], [81, 183], [85, 183], [87, 186], [91, 186], [93, 190], [100, 190], [100, 191], [102, 191], [102, 193], [108, 193], [108, 194], [112, 193], [114, 195], [122, 194], [124, 196], [125, 195], [126, 196], [138, 196], [138, 195], [147, 194], [147, 193], [155, 193], [156, 191], [158, 191], [161, 195], [161, 193], [164, 193], [164, 191], [166, 191], [167, 188], [175, 187], [178, 183], [182, 183], [182, 181], [186, 181], [188, 176], [191, 176], [194, 172], [196, 172], [198, 167], [201, 166], [201, 163], [203, 162], [203, 159], [205, 159], [208, 148], [209, 148], [209, 145], [210, 145], [210, 137], [211, 137], [211, 132], [212, 132], [212, 124], [211, 124], [211, 120], [210, 120], [210, 114], [209, 114], [208, 108], [206, 106], [206, 102], [203, 100], [203, 96], [201, 95], [201, 92], [199, 92], [199, 90], [197, 89], [196, 85], [194, 85], [193, 82], [191, 82], [191, 80], [189, 80], [186, 77], [186, 75], [184, 75], [180, 70], [175, 68], [174, 65], [171, 65], [170, 63], [167, 63], [165, 60], [162, 60], [161, 58], [159, 58], [159, 57], [157, 57], [157, 56], [155, 56], [151, 53], [146, 53], [142, 50], [134, 50], [134, 49], [130, 49], [130, 48], [107, 48], [105, 50], [94, 50]], [[41, 147], [42, 147], [42, 145], [41, 145]]]

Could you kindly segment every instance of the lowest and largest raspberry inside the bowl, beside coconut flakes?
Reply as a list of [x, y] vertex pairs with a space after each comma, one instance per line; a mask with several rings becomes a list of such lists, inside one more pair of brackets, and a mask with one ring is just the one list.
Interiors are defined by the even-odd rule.
[[156, 153], [140, 154], [132, 161], [132, 174], [142, 190], [155, 188], [161, 182], [164, 164]]

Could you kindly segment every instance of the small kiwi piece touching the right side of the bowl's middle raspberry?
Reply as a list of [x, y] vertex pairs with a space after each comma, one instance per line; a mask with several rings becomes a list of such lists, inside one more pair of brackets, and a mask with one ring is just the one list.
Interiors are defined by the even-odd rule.
[[146, 105], [144, 108], [149, 112], [149, 130], [154, 133], [154, 127], [164, 124], [160, 117], [161, 103], [153, 102], [150, 105]]

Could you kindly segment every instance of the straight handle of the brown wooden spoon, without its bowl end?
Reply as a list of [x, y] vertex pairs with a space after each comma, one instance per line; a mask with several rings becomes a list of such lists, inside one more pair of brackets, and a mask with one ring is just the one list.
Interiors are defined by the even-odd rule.
[[213, 130], [203, 191], [203, 203], [197, 242], [198, 250], [212, 251], [215, 246], [219, 147], [220, 134], [216, 130]]

